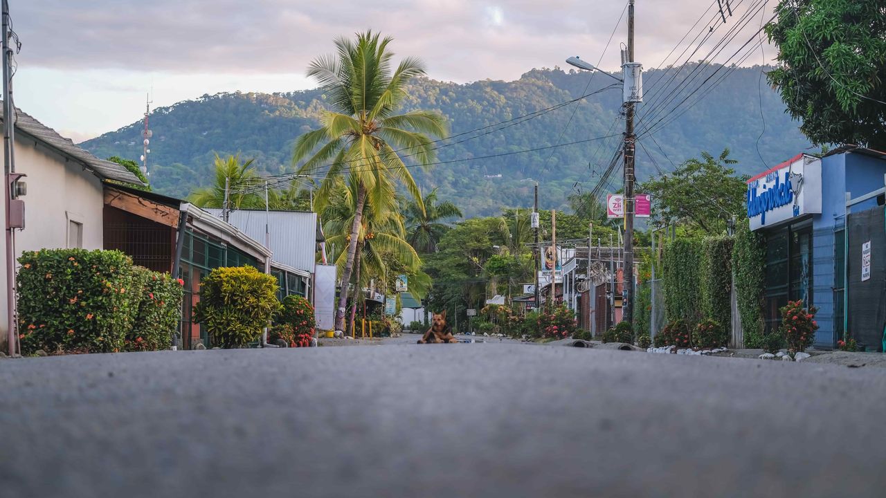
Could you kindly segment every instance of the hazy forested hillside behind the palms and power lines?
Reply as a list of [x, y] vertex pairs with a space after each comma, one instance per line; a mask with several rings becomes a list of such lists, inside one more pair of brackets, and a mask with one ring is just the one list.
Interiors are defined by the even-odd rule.
[[[702, 77], [715, 69], [703, 69]], [[661, 88], [656, 83], [674, 70], [670, 69], [669, 74], [663, 71], [644, 75], [647, 99], [640, 105], [638, 133], [660, 117], [648, 116], [649, 122], [642, 121], [646, 110], [667, 97], [668, 92], [657, 91], [657, 86]], [[683, 69], [684, 74], [687, 71]], [[613, 81], [597, 75], [585, 92], [589, 78], [588, 73], [533, 69], [514, 82], [412, 82], [406, 106], [443, 113], [454, 136], [440, 142], [439, 162], [443, 164], [416, 171], [416, 180], [429, 189], [439, 187], [439, 198], [454, 201], [469, 217], [498, 214], [502, 206], [529, 206], [532, 183], [519, 182], [525, 178], [540, 182], [541, 206], [563, 208], [571, 192], [590, 190], [599, 181], [620, 136], [587, 140], [618, 135], [624, 129], [624, 121], [618, 119], [620, 90], [603, 89]], [[579, 104], [539, 113], [528, 120], [517, 119], [597, 90], [601, 91]], [[809, 147], [797, 122], [784, 113], [780, 97], [766, 86], [765, 78], [760, 81], [759, 67], [737, 68], [718, 87], [706, 92], [681, 105], [679, 110], [685, 113], [673, 113], [672, 117], [680, 117], [657, 131], [655, 141], [653, 136], [641, 136], [637, 148], [641, 180], [657, 169], [670, 170], [672, 162], [682, 162], [703, 150], [717, 155], [728, 147], [739, 160], [736, 169], [751, 173]], [[705, 93], [693, 105], [696, 97]], [[157, 191], [187, 195], [210, 181], [208, 172], [215, 152], [240, 152], [245, 158], [253, 158], [262, 173], [291, 171], [292, 143], [315, 128], [323, 101], [323, 92], [314, 89], [273, 95], [204, 95], [161, 107], [151, 115], [151, 183]], [[502, 121], [509, 122], [484, 128]], [[764, 121], [766, 130], [760, 137]], [[141, 122], [136, 122], [82, 145], [100, 157], [137, 159], [142, 149], [141, 128]], [[459, 135], [478, 128], [484, 129]], [[544, 149], [579, 141], [585, 142]], [[509, 154], [529, 149], [541, 150]], [[496, 157], [471, 160], [482, 156]], [[610, 183], [608, 190], [620, 186], [617, 177]]]

